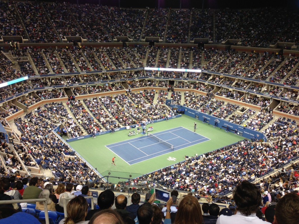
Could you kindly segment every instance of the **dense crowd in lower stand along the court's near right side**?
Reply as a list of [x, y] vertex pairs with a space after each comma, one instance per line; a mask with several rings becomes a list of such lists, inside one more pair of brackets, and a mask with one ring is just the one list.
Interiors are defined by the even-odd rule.
[[[205, 193], [213, 200], [218, 195], [228, 194], [240, 180], [254, 181], [291, 162], [292, 158], [298, 157], [297, 145], [291, 147], [290, 151], [285, 151], [283, 144], [268, 145], [243, 140], [202, 157], [189, 157], [184, 163], [162, 168], [143, 178], [170, 189]], [[271, 180], [275, 182], [276, 178], [271, 177]], [[258, 187], [265, 191], [269, 187], [267, 182], [262, 179]], [[274, 187], [275, 190], [278, 187]]]

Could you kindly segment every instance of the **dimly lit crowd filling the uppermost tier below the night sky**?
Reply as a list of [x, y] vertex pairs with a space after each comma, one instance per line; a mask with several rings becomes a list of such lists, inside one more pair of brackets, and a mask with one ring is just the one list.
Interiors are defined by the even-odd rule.
[[[21, 15], [21, 21], [14, 12], [15, 7]], [[283, 13], [283, 16], [280, 19], [271, 19], [271, 15], [277, 13]], [[166, 42], [170, 43], [187, 43], [194, 38], [207, 38], [215, 43], [239, 39], [242, 46], [250, 47], [268, 47], [277, 41], [298, 43], [296, 29], [290, 29], [285, 25], [290, 19], [298, 22], [297, 14], [273, 8], [258, 9], [254, 12], [144, 10], [89, 4], [22, 2], [2, 3], [2, 14], [2, 22], [5, 24], [1, 31], [3, 35], [22, 35], [24, 39], [29, 36], [32, 42], [62, 42], [64, 36], [82, 36], [89, 42], [111, 42], [115, 36], [128, 36], [134, 41], [140, 41], [146, 36], [158, 36], [163, 40], [166, 36]], [[244, 15], [245, 18], [240, 19], [240, 15]], [[213, 18], [217, 18], [215, 22]], [[23, 30], [22, 23], [26, 30]], [[241, 27], [240, 24], [245, 25]], [[266, 24], [269, 26], [263, 29]], [[250, 27], [253, 26], [256, 26], [257, 30], [252, 31]]]

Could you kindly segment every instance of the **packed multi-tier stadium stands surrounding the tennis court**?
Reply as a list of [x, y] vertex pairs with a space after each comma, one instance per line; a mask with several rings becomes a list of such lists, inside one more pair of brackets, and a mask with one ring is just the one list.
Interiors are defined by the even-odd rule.
[[[16, 125], [20, 132], [8, 132], [7, 142], [1, 138], [1, 174], [25, 177], [42, 168], [53, 174], [54, 185], [88, 185], [98, 172], [51, 130], [60, 126], [61, 136], [74, 138], [135, 125], [139, 117], [161, 119], [173, 114], [164, 105], [171, 99], [173, 105], [260, 131], [268, 142], [244, 139], [190, 157], [139, 177], [146, 181], [131, 180], [135, 191], [147, 193], [142, 187], [155, 181], [219, 202], [231, 199], [239, 181], [249, 180], [261, 193], [274, 191], [275, 202], [277, 195], [298, 192], [298, 15], [273, 8], [123, 9], [1, 1], [1, 36], [20, 35], [24, 42], [1, 48], [0, 82], [28, 77], [0, 88], [1, 124]], [[70, 36], [81, 40], [70, 47]], [[133, 43], [118, 45], [118, 36]], [[146, 37], [160, 43], [139, 42]], [[196, 38], [212, 44], [194, 45]], [[94, 83], [102, 81], [107, 83]], [[112, 189], [103, 182], [93, 187], [104, 189], [104, 184]]]

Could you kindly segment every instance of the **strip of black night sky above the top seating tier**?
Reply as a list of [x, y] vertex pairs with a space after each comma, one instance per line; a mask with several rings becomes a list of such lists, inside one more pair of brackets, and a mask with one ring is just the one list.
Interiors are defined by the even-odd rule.
[[[50, 0], [51, 1], [51, 0]], [[60, 1], [60, 0], [58, 0]], [[66, 1], [66, 0], [64, 0]], [[99, 4], [99, 2], [105, 6], [116, 6], [118, 7], [120, 2], [120, 7], [133, 7], [133, 8], [155, 8], [158, 7], [158, 1], [160, 2], [160, 8], [202, 8], [202, 1], [204, 1], [204, 8], [260, 8], [260, 7], [289, 7], [289, 8], [299, 8], [299, 0], [287, 0], [287, 1], [263, 1], [263, 0], [252, 0], [252, 1], [240, 1], [240, 0], [67, 0], [76, 4]]]

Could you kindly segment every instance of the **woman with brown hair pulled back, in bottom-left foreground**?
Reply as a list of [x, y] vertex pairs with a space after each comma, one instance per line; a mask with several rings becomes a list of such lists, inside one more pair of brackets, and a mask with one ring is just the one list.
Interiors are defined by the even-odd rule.
[[68, 217], [62, 219], [59, 224], [87, 224], [89, 222], [85, 221], [87, 209], [88, 203], [83, 196], [74, 197], [66, 206]]

